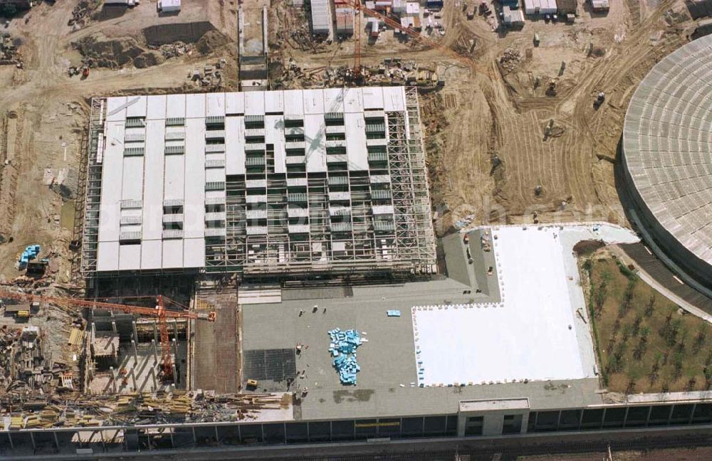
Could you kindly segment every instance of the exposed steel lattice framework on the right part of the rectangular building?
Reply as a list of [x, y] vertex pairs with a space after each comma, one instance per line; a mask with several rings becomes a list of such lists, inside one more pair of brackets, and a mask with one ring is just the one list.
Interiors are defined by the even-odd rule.
[[[365, 111], [367, 170], [349, 164], [335, 112], [325, 114], [328, 171], [288, 171], [285, 181], [269, 171], [266, 150], [264, 184], [247, 187], [248, 196], [265, 197], [266, 221], [247, 212], [244, 274], [436, 272], [417, 90], [405, 92], [405, 111]], [[315, 141], [292, 134], [287, 142], [301, 156], [300, 143]]]

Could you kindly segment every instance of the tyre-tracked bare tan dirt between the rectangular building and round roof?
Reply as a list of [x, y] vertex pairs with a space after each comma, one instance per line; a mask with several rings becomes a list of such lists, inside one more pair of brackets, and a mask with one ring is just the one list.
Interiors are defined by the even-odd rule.
[[[352, 63], [352, 41], [300, 45], [283, 31], [304, 27], [306, 19], [283, 2], [273, 3], [273, 20], [288, 26], [273, 36], [272, 43], [283, 43], [273, 54], [292, 58], [306, 72]], [[445, 88], [422, 97], [438, 232], [471, 214], [473, 224], [516, 223], [531, 221], [533, 211], [540, 221], [625, 224], [613, 166], [627, 102], [656, 61], [688, 40], [684, 4], [612, 2], [608, 14], [594, 14], [581, 0], [573, 24], [532, 20], [506, 33], [494, 31], [482, 16], [467, 20], [461, 6], [446, 2], [438, 19], [446, 33], [433, 36], [469, 54], [479, 72], [392, 31], [375, 43], [362, 34], [366, 65], [399, 56], [444, 70]], [[533, 44], [535, 33], [539, 46]], [[520, 58], [500, 63], [506, 51]], [[546, 96], [553, 79], [557, 95]], [[596, 110], [593, 102], [601, 91], [606, 101]], [[555, 137], [545, 139], [552, 121]], [[494, 156], [500, 163], [493, 169]]]

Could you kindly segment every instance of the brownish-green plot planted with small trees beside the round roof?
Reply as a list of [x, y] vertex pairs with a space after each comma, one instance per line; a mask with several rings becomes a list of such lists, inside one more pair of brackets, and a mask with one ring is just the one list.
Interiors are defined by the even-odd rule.
[[712, 389], [712, 326], [653, 290], [626, 265], [582, 261], [604, 386], [624, 393]]

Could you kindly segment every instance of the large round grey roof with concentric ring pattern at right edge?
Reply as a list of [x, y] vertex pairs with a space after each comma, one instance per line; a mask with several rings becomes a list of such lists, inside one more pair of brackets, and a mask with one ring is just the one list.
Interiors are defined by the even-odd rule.
[[655, 65], [625, 117], [623, 152], [654, 218], [712, 264], [712, 36]]

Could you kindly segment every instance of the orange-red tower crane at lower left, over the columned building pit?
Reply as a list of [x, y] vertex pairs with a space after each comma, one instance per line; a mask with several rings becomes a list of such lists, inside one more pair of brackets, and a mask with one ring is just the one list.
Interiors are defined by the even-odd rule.
[[63, 304], [73, 307], [88, 307], [90, 309], [106, 309], [114, 312], [125, 312], [126, 314], [145, 315], [147, 317], [157, 317], [159, 331], [161, 332], [161, 352], [163, 363], [163, 378], [167, 381], [173, 379], [173, 360], [171, 359], [171, 345], [168, 337], [167, 319], [198, 319], [215, 322], [215, 312], [192, 312], [185, 308], [182, 310], [166, 309], [164, 300], [168, 300], [179, 307], [183, 307], [177, 302], [164, 298], [162, 295], [155, 297], [156, 307], [130, 306], [128, 304], [115, 304], [111, 302], [98, 302], [93, 300], [80, 300], [76, 298], [31, 295], [29, 293], [19, 293], [7, 290], [0, 290], [1, 298], [8, 298], [22, 302], [49, 302], [53, 304]]

